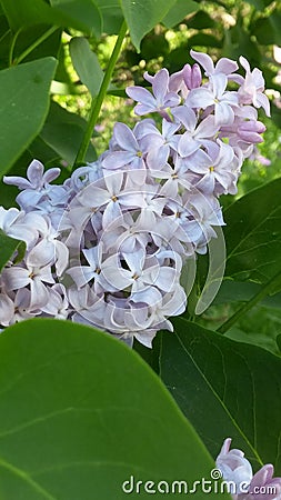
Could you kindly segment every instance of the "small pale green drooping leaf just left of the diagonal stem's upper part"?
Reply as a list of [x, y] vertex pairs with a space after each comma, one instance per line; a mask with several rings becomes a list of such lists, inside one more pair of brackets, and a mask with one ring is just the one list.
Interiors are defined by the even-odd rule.
[[103, 71], [88, 40], [83, 37], [72, 38], [69, 49], [73, 67], [80, 80], [90, 90], [92, 97], [98, 96], [103, 79]]

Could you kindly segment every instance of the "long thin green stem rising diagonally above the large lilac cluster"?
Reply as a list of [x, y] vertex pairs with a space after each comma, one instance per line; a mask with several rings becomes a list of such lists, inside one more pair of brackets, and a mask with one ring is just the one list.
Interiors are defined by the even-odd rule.
[[101, 87], [100, 87], [100, 91], [99, 91], [99, 93], [97, 96], [97, 99], [92, 100], [90, 118], [89, 118], [89, 121], [88, 121], [88, 124], [87, 124], [87, 129], [86, 129], [86, 133], [84, 133], [83, 140], [82, 140], [81, 146], [79, 148], [79, 151], [77, 153], [74, 167], [80, 166], [84, 161], [84, 157], [86, 157], [86, 153], [88, 151], [89, 143], [91, 141], [93, 128], [94, 128], [94, 126], [96, 126], [96, 123], [98, 121], [100, 109], [101, 109], [103, 99], [106, 97], [106, 93], [107, 93], [107, 90], [108, 90], [108, 87], [109, 87], [109, 83], [110, 83], [110, 80], [111, 80], [111, 77], [112, 77], [112, 73], [113, 73], [117, 60], [119, 58], [119, 54], [120, 54], [120, 51], [121, 51], [121, 47], [122, 47], [122, 42], [123, 42], [123, 39], [126, 37], [126, 33], [127, 33], [127, 23], [126, 23], [126, 21], [123, 21], [123, 23], [122, 23], [122, 26], [120, 28], [120, 32], [119, 32], [117, 42], [114, 44], [112, 54], [110, 57], [107, 71], [104, 73], [104, 77], [103, 77], [103, 80], [102, 80], [102, 83], [101, 83]]

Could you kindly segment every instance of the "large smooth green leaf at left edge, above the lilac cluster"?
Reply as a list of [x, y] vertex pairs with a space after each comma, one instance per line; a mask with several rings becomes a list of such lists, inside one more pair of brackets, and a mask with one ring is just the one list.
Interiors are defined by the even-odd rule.
[[53, 58], [44, 58], [0, 72], [0, 176], [41, 130], [56, 64]]

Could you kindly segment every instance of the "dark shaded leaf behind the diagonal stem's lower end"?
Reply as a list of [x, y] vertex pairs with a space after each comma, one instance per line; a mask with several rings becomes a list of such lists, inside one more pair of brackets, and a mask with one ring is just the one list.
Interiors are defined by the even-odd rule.
[[[86, 127], [87, 122], [82, 117], [70, 113], [57, 102], [51, 102], [50, 111], [40, 133], [40, 138], [52, 150], [57, 151], [62, 160], [72, 166], [84, 134]], [[90, 144], [87, 153], [87, 161], [94, 161], [96, 159], [96, 150], [93, 146]]]

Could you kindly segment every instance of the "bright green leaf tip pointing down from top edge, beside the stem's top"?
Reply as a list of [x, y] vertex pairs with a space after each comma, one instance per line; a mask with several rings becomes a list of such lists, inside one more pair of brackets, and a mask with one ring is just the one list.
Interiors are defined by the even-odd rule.
[[159, 23], [175, 3], [175, 0], [120, 0], [132, 43], [140, 50], [140, 42]]

